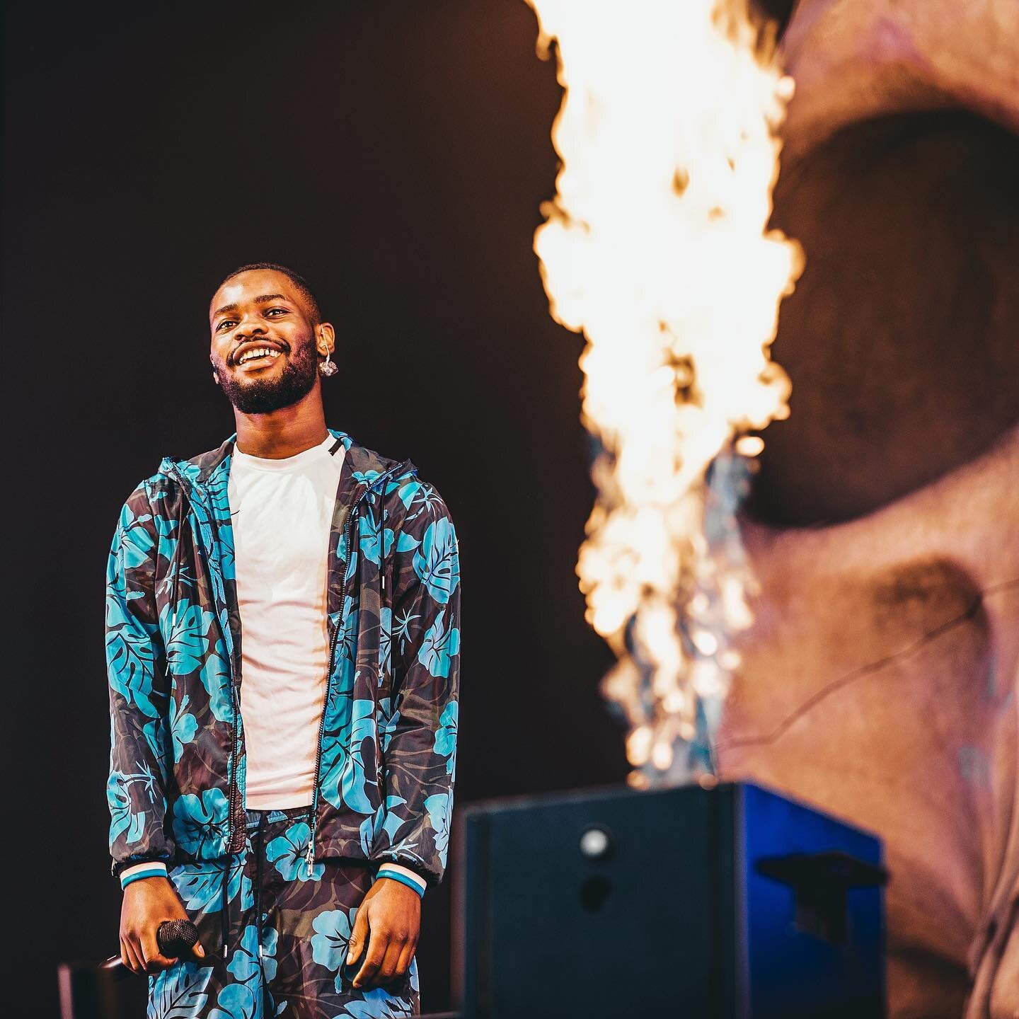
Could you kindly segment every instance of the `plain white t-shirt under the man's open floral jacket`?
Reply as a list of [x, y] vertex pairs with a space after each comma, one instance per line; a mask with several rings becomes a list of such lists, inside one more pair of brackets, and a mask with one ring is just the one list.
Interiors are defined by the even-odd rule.
[[264, 460], [234, 446], [227, 495], [240, 607], [245, 806], [312, 802], [329, 635], [326, 561], [343, 446]]

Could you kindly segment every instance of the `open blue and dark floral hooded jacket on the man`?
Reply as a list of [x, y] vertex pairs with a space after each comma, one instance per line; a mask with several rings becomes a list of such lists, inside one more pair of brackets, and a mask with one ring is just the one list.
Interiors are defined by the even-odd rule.
[[[329, 535], [330, 659], [307, 860], [389, 860], [434, 884], [457, 761], [457, 536], [410, 461], [329, 431], [346, 452]], [[244, 847], [243, 635], [227, 500], [235, 438], [164, 459], [128, 497], [113, 538], [114, 873]]]

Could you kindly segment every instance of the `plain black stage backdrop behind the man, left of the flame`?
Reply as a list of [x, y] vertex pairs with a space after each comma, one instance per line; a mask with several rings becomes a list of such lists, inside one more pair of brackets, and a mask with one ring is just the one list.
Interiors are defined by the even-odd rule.
[[[5, 1014], [50, 1019], [58, 960], [116, 948], [107, 549], [162, 455], [233, 430], [206, 312], [238, 264], [308, 275], [338, 333], [329, 423], [451, 508], [458, 805], [623, 780], [574, 575], [582, 341], [531, 251], [559, 101], [535, 37], [523, 0], [6, 5]], [[431, 1010], [451, 877], [424, 904]]]

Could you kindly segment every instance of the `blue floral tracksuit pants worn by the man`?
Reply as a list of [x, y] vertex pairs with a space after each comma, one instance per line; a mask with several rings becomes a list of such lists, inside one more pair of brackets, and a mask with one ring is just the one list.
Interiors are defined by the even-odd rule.
[[[355, 989], [347, 941], [373, 870], [312, 865], [309, 808], [249, 810], [244, 852], [170, 870], [206, 957], [149, 978], [148, 1019], [398, 1019], [420, 1014], [417, 959], [401, 980]], [[227, 951], [224, 953], [223, 946]]]

